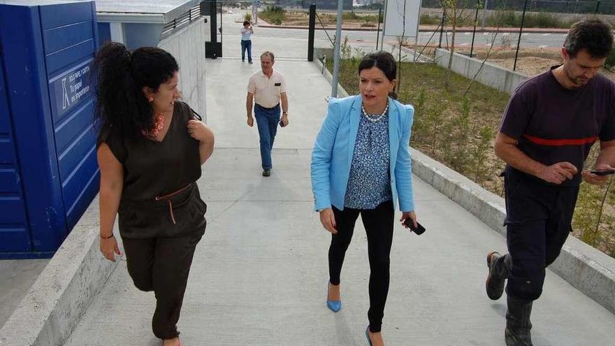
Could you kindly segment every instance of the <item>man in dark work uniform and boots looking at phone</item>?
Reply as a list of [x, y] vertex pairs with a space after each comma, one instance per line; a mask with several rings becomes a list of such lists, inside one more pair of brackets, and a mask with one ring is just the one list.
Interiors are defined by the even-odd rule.
[[[598, 74], [612, 47], [608, 24], [573, 24], [562, 48], [564, 63], [516, 88], [495, 138], [495, 154], [507, 164], [509, 253], [487, 255], [486, 291], [500, 298], [508, 279], [507, 346], [533, 345], [532, 303], [542, 294], [545, 268], [572, 230], [581, 178], [603, 184], [610, 175], [600, 173], [615, 166], [615, 84]], [[584, 171], [596, 140], [600, 154], [592, 170]]]

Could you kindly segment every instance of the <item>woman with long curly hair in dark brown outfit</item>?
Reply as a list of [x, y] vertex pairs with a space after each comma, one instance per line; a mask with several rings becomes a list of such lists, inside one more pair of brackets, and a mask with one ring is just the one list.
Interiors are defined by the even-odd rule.
[[164, 346], [180, 345], [176, 324], [206, 224], [196, 180], [214, 135], [178, 101], [179, 67], [168, 52], [107, 43], [94, 66], [100, 249], [110, 261], [120, 254], [113, 235], [119, 215], [128, 272], [138, 289], [156, 296], [154, 335]]

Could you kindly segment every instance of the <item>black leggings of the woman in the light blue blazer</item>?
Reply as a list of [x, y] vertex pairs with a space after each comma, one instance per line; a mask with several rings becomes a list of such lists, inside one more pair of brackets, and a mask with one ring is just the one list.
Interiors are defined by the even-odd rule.
[[363, 226], [368, 236], [368, 255], [370, 258], [370, 310], [368, 319], [370, 331], [377, 333], [382, 326], [384, 305], [389, 294], [389, 254], [393, 243], [393, 202], [380, 203], [375, 209], [339, 210], [333, 207], [338, 233], [331, 235], [329, 247], [329, 280], [340, 284], [342, 264], [357, 217], [361, 214]]

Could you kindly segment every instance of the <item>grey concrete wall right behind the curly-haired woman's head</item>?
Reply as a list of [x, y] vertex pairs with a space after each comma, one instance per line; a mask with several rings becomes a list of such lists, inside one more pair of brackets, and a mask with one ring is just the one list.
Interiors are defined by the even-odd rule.
[[205, 24], [199, 18], [163, 38], [158, 47], [170, 52], [180, 65], [180, 90], [188, 103], [207, 122], [205, 110]]

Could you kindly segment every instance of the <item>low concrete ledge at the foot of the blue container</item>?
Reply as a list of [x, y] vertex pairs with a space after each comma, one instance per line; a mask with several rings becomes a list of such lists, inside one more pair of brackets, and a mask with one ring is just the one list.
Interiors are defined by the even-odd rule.
[[96, 197], [0, 329], [0, 345], [64, 345], [117, 265], [101, 256], [98, 239]]

